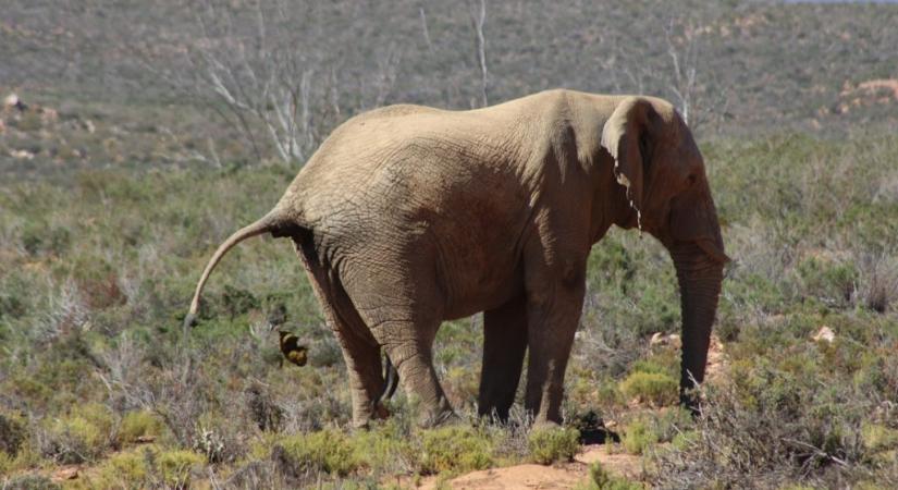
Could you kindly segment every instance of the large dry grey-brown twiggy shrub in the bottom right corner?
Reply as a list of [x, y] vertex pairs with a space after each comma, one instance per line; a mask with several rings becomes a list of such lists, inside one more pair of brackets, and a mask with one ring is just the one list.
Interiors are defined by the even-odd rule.
[[878, 394], [850, 382], [821, 387], [766, 363], [740, 376], [748, 381], [703, 388], [696, 436], [661, 453], [654, 485], [777, 488], [801, 481], [829, 487], [875, 470], [861, 429], [879, 404]]

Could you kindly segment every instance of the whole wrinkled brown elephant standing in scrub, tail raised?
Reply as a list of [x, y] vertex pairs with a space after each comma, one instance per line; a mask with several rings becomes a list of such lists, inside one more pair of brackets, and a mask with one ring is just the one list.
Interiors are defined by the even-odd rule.
[[[525, 407], [559, 422], [587, 256], [612, 224], [669, 250], [682, 306], [681, 390], [704, 377], [727, 260], [689, 128], [649, 97], [549, 90], [471, 111], [393, 106], [321, 145], [274, 209], [233, 245], [293, 240], [343, 348], [353, 419], [386, 415], [385, 348], [422, 425], [452, 417], [432, 363], [443, 320], [484, 311], [479, 411], [506, 417], [525, 351]], [[684, 401], [687, 399], [684, 396]]]

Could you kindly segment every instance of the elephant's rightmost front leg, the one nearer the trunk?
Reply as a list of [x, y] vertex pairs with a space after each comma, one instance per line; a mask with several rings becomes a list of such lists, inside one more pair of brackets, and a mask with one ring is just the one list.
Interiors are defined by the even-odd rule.
[[528, 291], [525, 408], [536, 424], [561, 424], [564, 375], [583, 304], [586, 268], [537, 281]]

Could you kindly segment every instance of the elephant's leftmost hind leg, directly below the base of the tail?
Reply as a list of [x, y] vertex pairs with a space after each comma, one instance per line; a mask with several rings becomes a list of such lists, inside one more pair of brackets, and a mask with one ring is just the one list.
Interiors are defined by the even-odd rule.
[[318, 262], [317, 256], [309, 250], [297, 246], [297, 253], [306, 266], [324, 319], [334, 331], [343, 352], [353, 397], [353, 426], [367, 427], [371, 419], [388, 415], [379, 401], [384, 385], [380, 345], [362, 322], [335, 274], [328, 273]]

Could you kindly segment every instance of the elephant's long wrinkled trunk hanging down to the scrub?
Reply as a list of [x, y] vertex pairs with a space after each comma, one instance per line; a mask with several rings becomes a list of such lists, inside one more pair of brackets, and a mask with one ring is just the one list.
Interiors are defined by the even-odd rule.
[[682, 314], [680, 403], [694, 413], [698, 405], [688, 391], [704, 380], [724, 262], [696, 242], [676, 243], [669, 252], [677, 270]]

